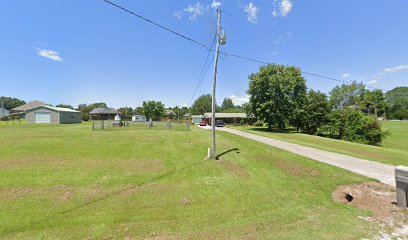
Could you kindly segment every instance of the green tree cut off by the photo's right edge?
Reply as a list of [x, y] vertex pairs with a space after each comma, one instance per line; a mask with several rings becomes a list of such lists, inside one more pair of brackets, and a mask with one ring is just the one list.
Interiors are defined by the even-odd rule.
[[408, 87], [396, 87], [385, 94], [387, 118], [408, 119]]

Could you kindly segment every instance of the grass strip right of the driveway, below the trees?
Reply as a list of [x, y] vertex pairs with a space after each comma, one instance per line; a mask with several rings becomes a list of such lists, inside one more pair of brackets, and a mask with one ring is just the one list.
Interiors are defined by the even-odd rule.
[[241, 131], [391, 165], [408, 165], [408, 121], [382, 121], [389, 135], [382, 146], [352, 143], [296, 132], [268, 132], [266, 127], [232, 127]]

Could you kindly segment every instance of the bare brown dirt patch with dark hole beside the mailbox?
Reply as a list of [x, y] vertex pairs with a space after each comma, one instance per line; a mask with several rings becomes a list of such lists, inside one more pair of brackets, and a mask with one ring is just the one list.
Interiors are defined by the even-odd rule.
[[345, 185], [338, 187], [332, 197], [337, 203], [372, 212], [372, 217], [361, 218], [375, 224], [379, 234], [374, 239], [408, 239], [408, 214], [396, 206], [391, 186], [377, 182]]

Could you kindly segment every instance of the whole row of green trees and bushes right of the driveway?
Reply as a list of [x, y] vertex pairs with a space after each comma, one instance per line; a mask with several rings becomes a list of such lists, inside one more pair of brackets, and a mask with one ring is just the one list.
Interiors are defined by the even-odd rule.
[[249, 76], [247, 114], [268, 130], [290, 127], [307, 134], [366, 144], [380, 144], [386, 133], [377, 118], [408, 119], [408, 87], [386, 93], [352, 82], [329, 95], [307, 90], [301, 70], [269, 64]]

